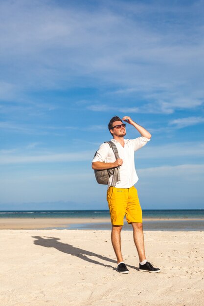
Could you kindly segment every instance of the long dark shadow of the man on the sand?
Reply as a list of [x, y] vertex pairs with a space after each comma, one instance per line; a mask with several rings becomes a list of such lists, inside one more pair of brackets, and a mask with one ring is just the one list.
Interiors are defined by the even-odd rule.
[[[60, 240], [60, 238], [55, 238], [55, 237], [45, 237], [45, 238], [43, 238], [41, 236], [32, 236], [32, 238], [36, 239], [36, 240], [34, 240], [34, 244], [36, 244], [36, 245], [41, 245], [41, 246], [44, 246], [44, 247], [53, 247], [60, 252], [67, 253], [67, 254], [70, 254], [72, 256], [76, 256], [80, 259], [85, 260], [86, 262], [99, 264], [99, 265], [102, 265], [104, 267], [109, 267], [109, 268], [112, 268], [113, 270], [116, 270], [116, 268], [113, 267], [112, 265], [105, 264], [105, 263], [102, 263], [102, 262], [98, 262], [94, 259], [89, 258], [88, 256], [94, 256], [95, 258], [102, 259], [106, 262], [113, 262], [114, 265], [116, 265], [117, 262], [114, 261], [113, 259], [110, 259], [108, 257], [102, 256], [102, 255], [99, 255], [99, 254], [96, 254], [96, 253], [93, 253], [93, 252], [90, 252], [90, 251], [87, 251], [87, 250], [80, 249], [80, 248], [75, 247], [75, 246], [73, 246], [71, 244], [68, 244], [68, 243], [59, 242], [58, 240]], [[128, 265], [128, 266], [135, 269], [134, 266], [131, 266], [131, 265]]]

